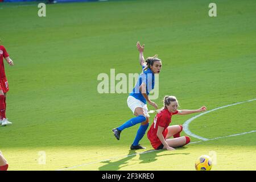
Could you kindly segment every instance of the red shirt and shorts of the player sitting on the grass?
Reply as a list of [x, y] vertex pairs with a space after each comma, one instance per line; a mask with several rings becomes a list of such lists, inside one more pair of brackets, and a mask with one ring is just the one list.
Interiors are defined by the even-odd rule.
[[178, 111], [176, 110], [175, 113], [171, 113], [168, 109], [161, 110], [158, 114], [156, 114], [154, 118], [154, 123], [152, 123], [150, 129], [147, 132], [147, 138], [150, 140], [152, 147], [155, 149], [162, 144], [158, 136], [158, 126], [164, 127], [163, 130], [163, 137], [166, 138], [167, 135], [167, 127], [172, 122], [172, 115], [177, 114]]

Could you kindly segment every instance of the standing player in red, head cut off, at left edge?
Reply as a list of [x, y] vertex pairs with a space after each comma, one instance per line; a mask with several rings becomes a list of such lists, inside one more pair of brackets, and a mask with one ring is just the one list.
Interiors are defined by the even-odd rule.
[[5, 65], [3, 64], [3, 58], [6, 62], [13, 66], [13, 60], [10, 59], [9, 54], [7, 53], [4, 46], [1, 44], [0, 40], [0, 125], [6, 126], [10, 125], [11, 122], [6, 118], [6, 96], [9, 91], [8, 81], [5, 75]]

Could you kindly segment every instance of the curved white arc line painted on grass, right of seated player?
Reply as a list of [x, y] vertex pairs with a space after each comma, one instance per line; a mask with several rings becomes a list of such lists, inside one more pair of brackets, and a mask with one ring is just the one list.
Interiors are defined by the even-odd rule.
[[234, 105], [238, 105], [238, 104], [243, 104], [243, 103], [246, 103], [246, 102], [255, 101], [255, 100], [256, 100], [256, 98], [254, 98], [254, 99], [252, 99], [252, 100], [248, 100], [248, 101], [237, 102], [237, 103], [235, 103], [235, 104], [229, 104], [229, 105], [226, 105], [226, 106], [217, 107], [217, 108], [215, 108], [215, 109], [206, 111], [206, 112], [201, 113], [201, 114], [199, 114], [199, 115], [196, 115], [196, 116], [194, 116], [194, 117], [192, 117], [192, 118], [190, 118], [190, 119], [188, 119], [187, 121], [184, 122], [184, 124], [183, 124], [183, 131], [184, 131], [187, 135], [190, 135], [191, 137], [194, 137], [194, 138], [197, 138], [197, 139], [201, 139], [201, 140], [204, 140], [204, 141], [210, 140], [210, 139], [208, 139], [208, 138], [200, 137], [199, 135], [196, 135], [196, 134], [192, 133], [192, 132], [189, 130], [189, 128], [188, 128], [189, 124], [190, 124], [194, 119], [199, 118], [200, 116], [202, 116], [202, 115], [204, 115], [204, 114], [208, 114], [208, 113], [210, 113], [210, 112], [212, 112], [212, 111], [215, 111], [215, 110], [218, 110], [218, 109], [223, 109], [223, 108], [229, 107], [229, 106], [234, 106]]

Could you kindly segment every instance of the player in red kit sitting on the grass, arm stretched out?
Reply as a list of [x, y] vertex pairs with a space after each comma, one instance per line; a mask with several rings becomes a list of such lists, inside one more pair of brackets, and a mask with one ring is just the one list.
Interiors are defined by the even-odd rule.
[[[206, 111], [206, 107], [203, 106], [197, 110], [177, 110], [178, 101], [174, 96], [164, 97], [164, 107], [156, 114], [154, 122], [152, 123], [150, 130], [148, 130], [147, 138], [155, 150], [167, 149], [175, 150], [175, 147], [181, 147], [190, 142], [190, 138], [180, 137], [180, 133], [183, 130], [181, 125], [169, 126], [171, 123], [172, 115], [185, 115], [192, 113], [199, 113]], [[170, 137], [174, 137], [169, 139]]]

